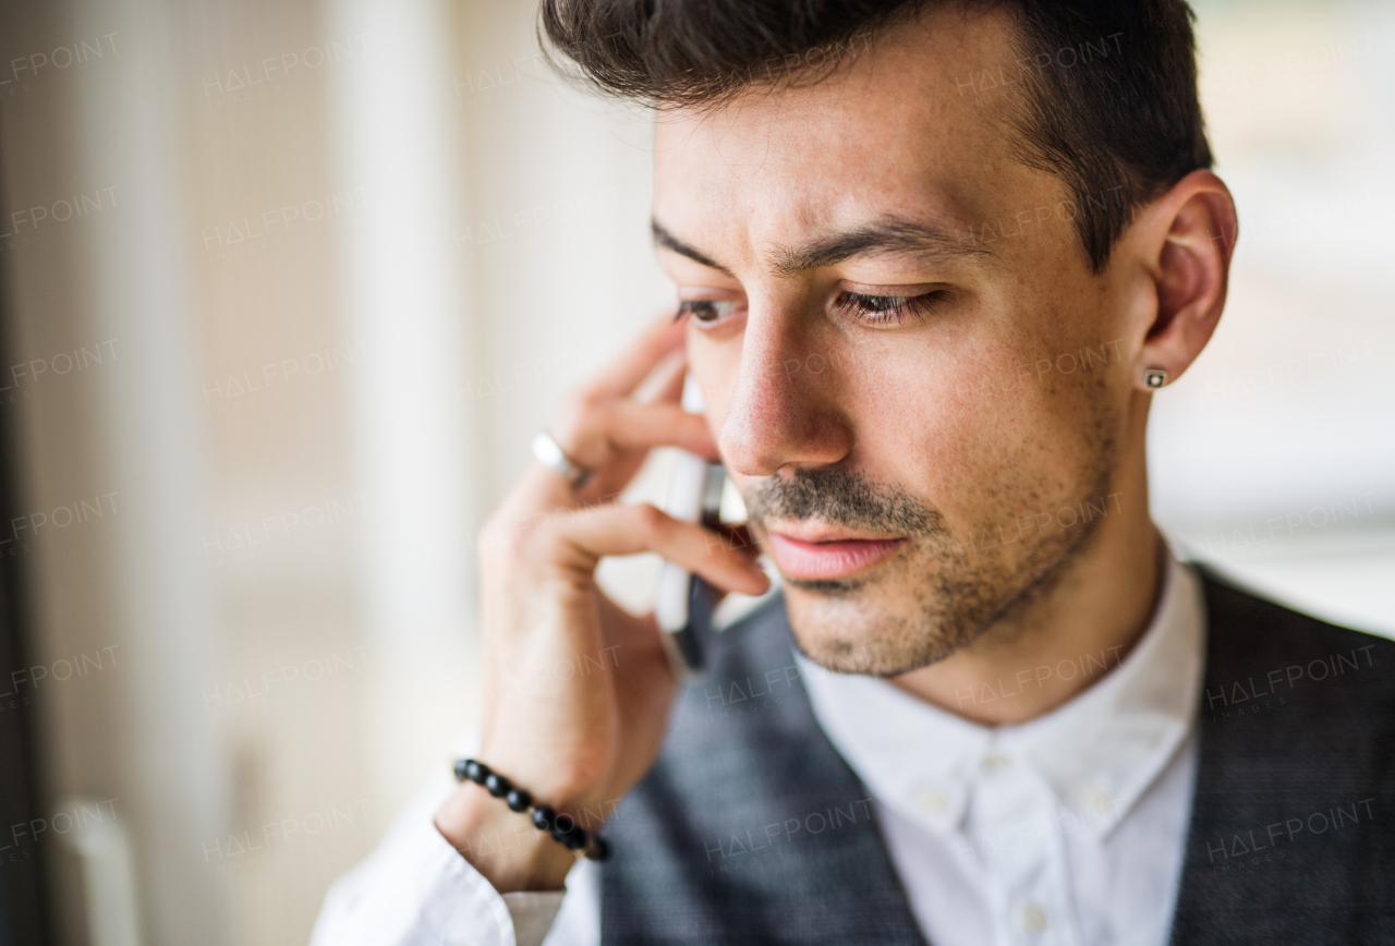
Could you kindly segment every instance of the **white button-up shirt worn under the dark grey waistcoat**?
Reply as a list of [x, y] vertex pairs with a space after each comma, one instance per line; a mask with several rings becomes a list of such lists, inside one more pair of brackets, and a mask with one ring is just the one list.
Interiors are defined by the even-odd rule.
[[[1099, 677], [1021, 726], [983, 727], [891, 684], [797, 657], [819, 724], [868, 787], [935, 946], [1165, 946], [1196, 772], [1201, 582], [1169, 557], [1158, 608], [1120, 663], [1024, 667], [971, 700], [1031, 699], [1052, 674]], [[1041, 682], [1038, 682], [1041, 681]], [[600, 873], [499, 896], [435, 830], [434, 780], [329, 890], [311, 946], [598, 946]]]

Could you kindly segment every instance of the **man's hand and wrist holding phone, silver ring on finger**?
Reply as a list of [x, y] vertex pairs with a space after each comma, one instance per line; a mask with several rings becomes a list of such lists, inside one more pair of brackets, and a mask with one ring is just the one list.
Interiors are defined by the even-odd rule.
[[[654, 763], [675, 692], [653, 615], [631, 615], [596, 586], [601, 557], [653, 551], [721, 590], [769, 586], [749, 547], [713, 541], [651, 505], [604, 501], [654, 446], [717, 455], [706, 420], [678, 403], [682, 339], [671, 318], [656, 322], [550, 428], [594, 472], [583, 490], [533, 463], [480, 534], [480, 759], [587, 830]], [[657, 395], [638, 400], [656, 368], [667, 370]], [[437, 813], [437, 827], [501, 893], [557, 889], [573, 862], [469, 781]]]

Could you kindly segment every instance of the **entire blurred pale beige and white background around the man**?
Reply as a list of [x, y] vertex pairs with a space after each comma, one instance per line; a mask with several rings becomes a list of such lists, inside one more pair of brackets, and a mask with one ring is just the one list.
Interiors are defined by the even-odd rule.
[[[1156, 518], [1395, 635], [1395, 8], [1197, 13], [1242, 239]], [[0, 0], [0, 943], [304, 943], [472, 726], [473, 536], [670, 293], [533, 14]]]

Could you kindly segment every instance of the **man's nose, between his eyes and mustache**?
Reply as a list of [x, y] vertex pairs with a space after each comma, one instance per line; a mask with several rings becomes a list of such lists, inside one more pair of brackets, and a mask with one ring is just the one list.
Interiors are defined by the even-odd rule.
[[837, 354], [809, 345], [802, 313], [755, 300], [749, 306], [717, 437], [723, 460], [742, 476], [840, 462], [852, 449], [852, 431], [837, 399]]

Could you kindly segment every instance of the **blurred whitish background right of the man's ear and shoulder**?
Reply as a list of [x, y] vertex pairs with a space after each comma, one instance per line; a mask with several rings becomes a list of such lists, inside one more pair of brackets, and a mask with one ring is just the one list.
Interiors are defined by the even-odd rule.
[[1395, 15], [1375, 3], [1201, 3], [1198, 15], [1240, 241], [1215, 338], [1154, 398], [1155, 515], [1269, 594], [1395, 635]]

